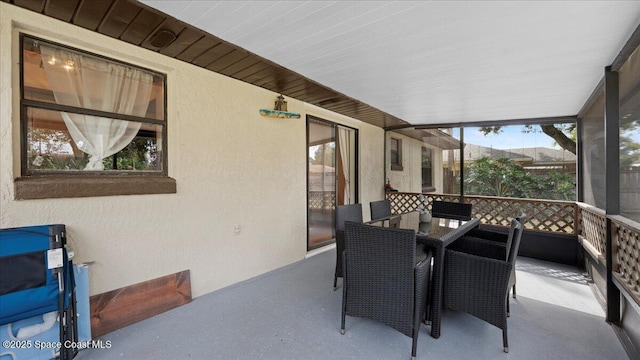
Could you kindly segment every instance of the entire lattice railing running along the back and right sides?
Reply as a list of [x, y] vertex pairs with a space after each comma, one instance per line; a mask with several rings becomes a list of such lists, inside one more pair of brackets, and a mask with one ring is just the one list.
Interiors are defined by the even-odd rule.
[[[421, 197], [422, 195], [422, 197]], [[394, 214], [431, 209], [433, 200], [459, 202], [458, 195], [389, 192]], [[483, 224], [508, 226], [509, 219], [526, 213], [529, 230], [578, 235], [585, 248], [604, 260], [607, 216], [595, 207], [574, 202], [465, 196], [473, 204], [472, 216]], [[614, 276], [640, 305], [640, 224], [622, 216], [609, 216], [613, 234]], [[586, 244], [585, 244], [586, 243]]]

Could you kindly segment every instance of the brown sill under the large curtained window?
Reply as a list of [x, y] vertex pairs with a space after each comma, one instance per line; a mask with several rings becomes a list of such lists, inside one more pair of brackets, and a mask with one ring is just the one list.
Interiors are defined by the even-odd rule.
[[22, 177], [14, 189], [15, 200], [175, 194], [176, 181], [167, 176]]

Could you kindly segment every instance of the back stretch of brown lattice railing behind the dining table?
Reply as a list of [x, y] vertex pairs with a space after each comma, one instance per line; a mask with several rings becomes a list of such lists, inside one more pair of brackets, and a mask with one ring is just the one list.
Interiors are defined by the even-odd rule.
[[[424, 201], [420, 200], [420, 195]], [[389, 192], [391, 210], [394, 214], [413, 211], [421, 202], [431, 209], [433, 200], [459, 202], [460, 196], [450, 194], [419, 194]], [[574, 202], [555, 200], [531, 200], [487, 196], [465, 196], [465, 202], [473, 204], [472, 216], [482, 224], [509, 226], [513, 217], [526, 214], [525, 228], [536, 231], [576, 234], [576, 209]]]

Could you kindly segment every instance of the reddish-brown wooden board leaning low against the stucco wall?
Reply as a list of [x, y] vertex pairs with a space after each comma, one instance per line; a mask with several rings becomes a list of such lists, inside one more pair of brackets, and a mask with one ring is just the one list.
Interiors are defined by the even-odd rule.
[[93, 338], [191, 302], [189, 270], [94, 295]]

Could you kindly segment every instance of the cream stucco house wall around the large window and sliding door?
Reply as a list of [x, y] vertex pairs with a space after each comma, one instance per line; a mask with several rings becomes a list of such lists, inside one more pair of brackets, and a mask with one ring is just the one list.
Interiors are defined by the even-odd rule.
[[[167, 74], [168, 171], [176, 194], [13, 200], [13, 179], [20, 176], [20, 31]], [[76, 260], [95, 261], [92, 295], [190, 269], [199, 296], [301, 260], [305, 115], [359, 130], [363, 204], [383, 196], [384, 132], [291, 98], [289, 111], [301, 119], [260, 116], [276, 96], [0, 3], [0, 227], [65, 224]]]

